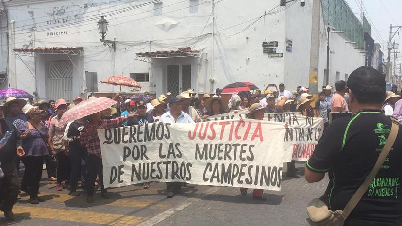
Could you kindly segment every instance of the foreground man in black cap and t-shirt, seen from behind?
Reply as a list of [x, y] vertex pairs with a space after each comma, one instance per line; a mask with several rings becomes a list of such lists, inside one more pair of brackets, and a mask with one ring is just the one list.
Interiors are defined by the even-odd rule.
[[328, 172], [328, 208], [344, 210], [373, 169], [391, 127], [396, 126], [399, 132], [386, 160], [343, 225], [401, 225], [402, 126], [392, 125], [391, 118], [381, 113], [385, 77], [376, 69], [361, 66], [350, 74], [348, 87], [353, 114], [337, 118], [322, 134], [305, 165], [305, 179], [318, 182]]

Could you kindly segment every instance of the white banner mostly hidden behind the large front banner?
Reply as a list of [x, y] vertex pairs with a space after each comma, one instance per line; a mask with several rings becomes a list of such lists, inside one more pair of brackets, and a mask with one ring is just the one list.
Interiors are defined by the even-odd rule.
[[[245, 113], [225, 113], [210, 116], [204, 121], [217, 121], [224, 119], [246, 118]], [[300, 113], [265, 113], [265, 121], [287, 123], [284, 141], [284, 162], [292, 160], [307, 161], [314, 152], [324, 129], [322, 118], [311, 118]]]

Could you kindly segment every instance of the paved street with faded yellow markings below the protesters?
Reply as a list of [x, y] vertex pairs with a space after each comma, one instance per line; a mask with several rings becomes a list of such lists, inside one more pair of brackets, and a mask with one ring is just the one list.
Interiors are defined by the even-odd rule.
[[[303, 164], [296, 164], [303, 169]], [[46, 172], [44, 171], [44, 175]], [[282, 191], [265, 191], [267, 201], [246, 197], [238, 188], [196, 186], [184, 188], [183, 194], [167, 199], [164, 183], [151, 183], [150, 189], [128, 186], [109, 190], [110, 199], [96, 194], [93, 204], [86, 203], [86, 194], [68, 195], [68, 190], [56, 191], [55, 183], [43, 179], [40, 194], [45, 202], [28, 203], [25, 193], [14, 206], [16, 221], [6, 221], [0, 215], [0, 225], [15, 226], [128, 226], [128, 225], [305, 225], [306, 205], [323, 194], [328, 179], [308, 184], [304, 178], [284, 176]]]

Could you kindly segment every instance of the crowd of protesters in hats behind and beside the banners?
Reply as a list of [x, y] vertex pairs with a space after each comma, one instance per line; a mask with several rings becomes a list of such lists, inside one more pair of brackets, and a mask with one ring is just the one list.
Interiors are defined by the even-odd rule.
[[[396, 87], [395, 87], [396, 88]], [[228, 95], [228, 94], [226, 94]], [[11, 137], [0, 146], [1, 168], [4, 178], [0, 181], [0, 210], [8, 219], [13, 219], [12, 206], [20, 192], [30, 196], [31, 204], [43, 200], [38, 196], [42, 171], [47, 170], [50, 181], [55, 181], [57, 191], [69, 189], [69, 195], [78, 196], [79, 184], [86, 190], [87, 202], [94, 202], [94, 191], [101, 188], [101, 197], [108, 198], [103, 186], [101, 144], [96, 129], [143, 125], [154, 121], [168, 123], [194, 123], [203, 119], [230, 112], [243, 111], [249, 118], [263, 120], [264, 113], [297, 112], [308, 117], [320, 117], [324, 130], [328, 127], [330, 113], [349, 112], [349, 92], [346, 81], [337, 81], [335, 90], [324, 86], [316, 97], [309, 89], [299, 86], [295, 93], [285, 90], [284, 84], [269, 84], [263, 91], [252, 93], [235, 92], [230, 99], [223, 98], [222, 89], [214, 94], [197, 94], [192, 89], [174, 96], [168, 92], [154, 99], [131, 99], [124, 92], [117, 93], [117, 104], [85, 118], [61, 124], [63, 114], [83, 101], [76, 97], [73, 104], [64, 99], [48, 102], [29, 99], [28, 102], [14, 97], [0, 106], [0, 135], [6, 132]], [[97, 97], [88, 97], [93, 99]], [[400, 92], [387, 92], [382, 111], [402, 121]], [[25, 166], [22, 180], [19, 179], [20, 161]], [[295, 162], [287, 163], [287, 176], [300, 177]], [[97, 180], [99, 178], [99, 180]], [[144, 183], [144, 189], [150, 187]], [[166, 183], [167, 197], [181, 193], [186, 183]], [[241, 194], [247, 194], [242, 188]], [[4, 196], [5, 194], [5, 196]], [[263, 190], [254, 189], [253, 197], [266, 200]]]

